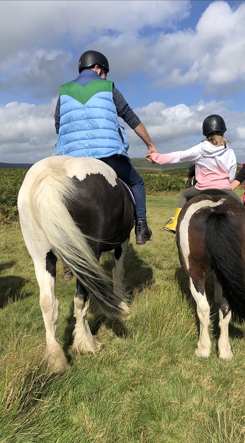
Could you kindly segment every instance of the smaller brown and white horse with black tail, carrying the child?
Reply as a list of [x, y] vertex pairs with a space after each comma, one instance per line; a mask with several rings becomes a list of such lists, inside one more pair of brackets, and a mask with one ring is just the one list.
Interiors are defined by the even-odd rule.
[[196, 301], [200, 334], [198, 357], [208, 358], [210, 307], [205, 294], [205, 277], [213, 270], [214, 300], [220, 305], [218, 357], [231, 360], [228, 325], [231, 315], [245, 320], [245, 207], [228, 195], [200, 194], [181, 210], [176, 229], [179, 260], [189, 278]]

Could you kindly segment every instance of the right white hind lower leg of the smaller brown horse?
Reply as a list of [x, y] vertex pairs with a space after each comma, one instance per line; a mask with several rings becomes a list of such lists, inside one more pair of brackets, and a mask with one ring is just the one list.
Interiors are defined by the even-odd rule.
[[233, 353], [231, 352], [229, 343], [228, 327], [231, 319], [231, 310], [227, 300], [223, 297], [221, 301], [221, 307], [219, 309], [220, 316], [220, 329], [221, 335], [218, 340], [218, 357], [221, 360], [232, 360]]

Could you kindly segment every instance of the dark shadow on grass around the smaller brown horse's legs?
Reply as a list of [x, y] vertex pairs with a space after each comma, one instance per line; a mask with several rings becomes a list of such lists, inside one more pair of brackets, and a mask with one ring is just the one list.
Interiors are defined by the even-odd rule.
[[[190, 307], [194, 308], [195, 312], [196, 312], [196, 302], [195, 302], [195, 300], [192, 296], [192, 293], [189, 289], [188, 278], [182, 268], [176, 269], [175, 278], [176, 278], [177, 283], [180, 287], [182, 295], [186, 298]], [[210, 318], [212, 321], [213, 335], [214, 335], [214, 337], [216, 337], [218, 339], [220, 336], [219, 305], [216, 305], [216, 303], [214, 302], [214, 277], [213, 277], [212, 273], [208, 274], [208, 276], [206, 277], [205, 291], [206, 291], [208, 303], [210, 305]], [[196, 312], [196, 324], [199, 328], [200, 322], [199, 322], [197, 312]], [[231, 321], [229, 323], [229, 337], [243, 338], [243, 336], [244, 336], [243, 331]]]

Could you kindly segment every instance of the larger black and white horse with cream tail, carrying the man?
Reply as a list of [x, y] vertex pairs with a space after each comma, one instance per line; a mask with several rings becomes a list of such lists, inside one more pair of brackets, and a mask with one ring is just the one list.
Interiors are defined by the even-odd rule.
[[[72, 349], [95, 353], [101, 346], [87, 319], [90, 298], [107, 315], [126, 315], [123, 259], [134, 225], [131, 196], [114, 170], [92, 158], [49, 157], [34, 164], [18, 195], [25, 245], [33, 260], [46, 328], [46, 357], [54, 372], [69, 364], [57, 336], [56, 261], [76, 277]], [[115, 249], [113, 281], [99, 265]]]

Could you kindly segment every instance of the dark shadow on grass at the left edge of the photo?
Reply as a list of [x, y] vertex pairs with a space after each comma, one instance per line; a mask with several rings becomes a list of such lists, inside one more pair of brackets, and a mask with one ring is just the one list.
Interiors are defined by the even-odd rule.
[[[15, 262], [2, 263], [0, 271], [12, 268]], [[0, 276], [0, 308], [3, 308], [9, 301], [14, 302], [23, 298], [22, 288], [25, 286], [26, 279], [16, 276]]]

